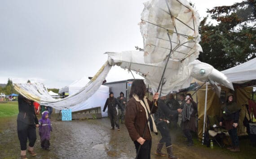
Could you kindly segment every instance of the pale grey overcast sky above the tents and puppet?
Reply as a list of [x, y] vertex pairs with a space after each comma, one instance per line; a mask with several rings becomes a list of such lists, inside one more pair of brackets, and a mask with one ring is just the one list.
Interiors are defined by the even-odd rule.
[[[139, 26], [146, 0], [0, 0], [0, 83], [68, 86], [93, 76], [104, 52], [143, 48]], [[242, 0], [191, 0], [200, 17]], [[136, 77], [139, 77], [138, 75]], [[107, 82], [133, 78], [115, 66]]]

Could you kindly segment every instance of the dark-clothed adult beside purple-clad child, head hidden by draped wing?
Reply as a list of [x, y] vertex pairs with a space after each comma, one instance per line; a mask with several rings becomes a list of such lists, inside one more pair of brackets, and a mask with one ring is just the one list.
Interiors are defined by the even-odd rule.
[[39, 127], [38, 119], [35, 116], [35, 107], [33, 101], [18, 95], [18, 118], [17, 130], [21, 146], [21, 158], [26, 159], [26, 142], [29, 141], [28, 153], [35, 156], [34, 145], [36, 140], [35, 128]]

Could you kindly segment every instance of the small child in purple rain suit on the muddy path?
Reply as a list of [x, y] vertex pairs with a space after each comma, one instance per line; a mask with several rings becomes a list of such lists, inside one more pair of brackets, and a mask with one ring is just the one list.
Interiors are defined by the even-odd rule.
[[41, 147], [44, 150], [49, 150], [50, 146], [50, 131], [52, 130], [51, 121], [49, 120], [49, 112], [42, 112], [42, 118], [39, 120], [39, 135]]

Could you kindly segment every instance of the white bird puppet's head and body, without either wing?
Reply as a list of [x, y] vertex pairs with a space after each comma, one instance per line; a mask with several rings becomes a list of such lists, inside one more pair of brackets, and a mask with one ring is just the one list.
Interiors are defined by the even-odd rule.
[[[125, 51], [125, 52], [106, 52], [110, 65], [118, 65], [123, 69], [133, 70], [145, 77], [146, 82], [157, 90], [160, 78], [163, 74], [165, 61], [146, 64], [144, 62], [143, 52]], [[190, 86], [192, 79], [206, 82], [208, 79], [217, 82], [223, 86], [233, 89], [232, 82], [210, 64], [194, 60], [188, 65], [183, 65], [180, 60], [169, 59], [165, 73], [163, 75], [162, 95], [168, 94], [172, 90], [179, 90]]]

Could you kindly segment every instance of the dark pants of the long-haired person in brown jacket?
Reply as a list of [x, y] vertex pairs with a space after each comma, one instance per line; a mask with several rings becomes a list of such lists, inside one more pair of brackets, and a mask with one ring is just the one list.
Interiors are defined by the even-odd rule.
[[[138, 152], [139, 146], [141, 145], [139, 142], [134, 141], [136, 153]], [[152, 141], [146, 140], [143, 145], [141, 145], [141, 149], [139, 151], [138, 159], [150, 159], [150, 150], [151, 150]]]

